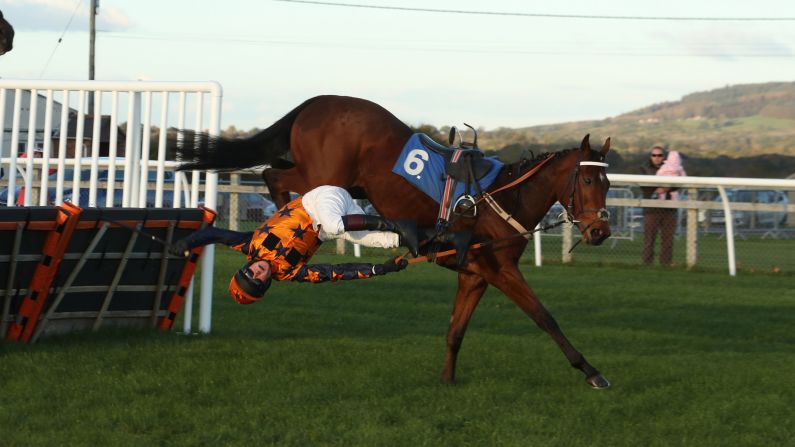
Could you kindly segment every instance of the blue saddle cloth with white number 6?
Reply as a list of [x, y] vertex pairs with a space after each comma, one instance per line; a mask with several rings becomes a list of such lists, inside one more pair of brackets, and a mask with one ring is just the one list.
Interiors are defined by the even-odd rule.
[[[491, 162], [489, 172], [478, 181], [481, 190], [485, 190], [497, 178], [503, 163], [494, 157], [486, 157], [485, 160]], [[428, 150], [420, 140], [420, 134], [414, 134], [403, 146], [392, 172], [408, 180], [409, 183], [419, 188], [428, 197], [440, 203], [444, 194], [444, 182], [447, 179], [444, 173], [444, 158], [433, 151]], [[464, 191], [466, 184], [459, 182], [453, 191], [454, 198], [460, 197], [465, 193], [474, 194], [474, 186], [470, 186], [472, 191]]]

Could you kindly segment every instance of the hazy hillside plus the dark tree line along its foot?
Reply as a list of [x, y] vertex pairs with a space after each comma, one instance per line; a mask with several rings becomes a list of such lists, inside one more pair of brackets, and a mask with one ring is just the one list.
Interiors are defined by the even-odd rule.
[[[449, 127], [414, 127], [446, 142]], [[259, 132], [229, 126], [225, 137]], [[594, 144], [612, 138], [611, 172], [634, 173], [653, 144], [678, 150], [699, 176], [784, 178], [795, 173], [795, 82], [726, 86], [661, 102], [615, 117], [524, 128], [479, 130], [481, 149], [505, 161], [522, 154]], [[471, 141], [471, 133], [464, 133]]]

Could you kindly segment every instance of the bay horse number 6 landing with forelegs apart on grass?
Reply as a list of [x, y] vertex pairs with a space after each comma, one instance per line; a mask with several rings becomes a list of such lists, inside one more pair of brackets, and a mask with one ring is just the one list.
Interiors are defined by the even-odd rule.
[[[344, 96], [318, 96], [305, 101], [272, 126], [245, 139], [200, 134], [177, 148], [180, 169], [234, 170], [270, 165], [262, 173], [271, 196], [281, 207], [291, 191], [303, 194], [321, 185], [347, 188], [367, 198], [389, 219], [415, 218], [418, 225], [435, 225], [439, 204], [392, 172], [412, 130], [373, 102]], [[592, 150], [586, 135], [579, 148], [542, 154], [533, 160], [505, 165], [491, 191], [493, 199], [524, 228], [534, 228], [547, 210], [560, 202], [582, 233], [582, 240], [599, 245], [610, 236], [605, 201], [609, 181], [603, 161], [608, 138]], [[527, 178], [523, 174], [535, 173]], [[442, 381], [455, 380], [456, 360], [469, 320], [489, 284], [497, 287], [558, 344], [572, 367], [585, 374], [593, 388], [610, 383], [569, 342], [552, 315], [528, 286], [518, 268], [527, 239], [502, 239], [516, 234], [514, 226], [491, 207], [479, 205], [473, 218], [453, 229], [469, 228], [472, 242], [497, 240], [469, 250], [463, 265], [453, 257], [436, 263], [458, 272]]]

